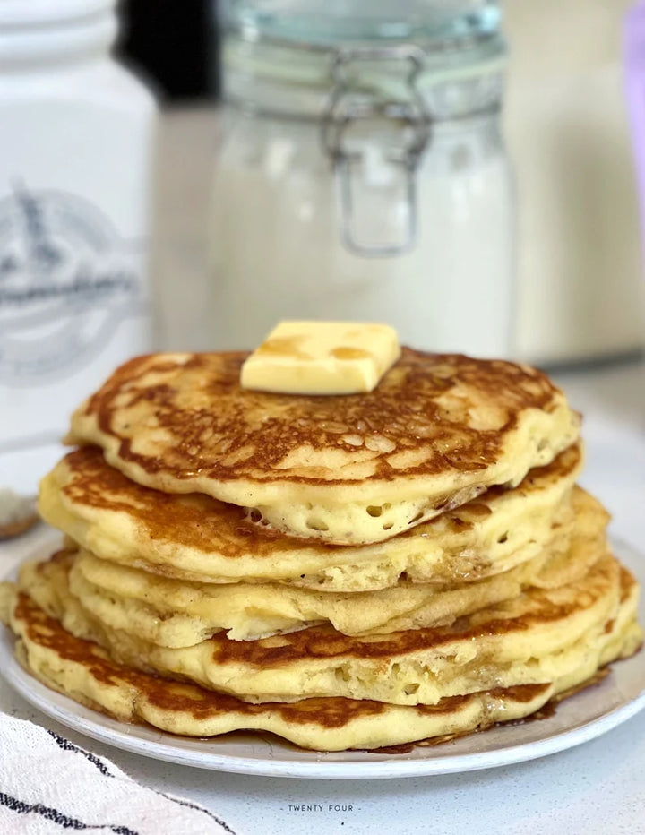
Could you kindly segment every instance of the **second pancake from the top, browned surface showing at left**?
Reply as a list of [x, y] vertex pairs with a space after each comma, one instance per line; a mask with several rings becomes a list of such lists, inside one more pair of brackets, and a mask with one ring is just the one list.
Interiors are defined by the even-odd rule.
[[[492, 487], [396, 538], [363, 547], [286, 538], [245, 521], [236, 505], [136, 485], [93, 446], [70, 452], [42, 480], [39, 510], [101, 559], [176, 580], [368, 591], [401, 579], [480, 580], [545, 549], [565, 551], [581, 464], [581, 446], [574, 444], [547, 466], [530, 470], [512, 490]], [[593, 504], [598, 518], [607, 519], [580, 488], [574, 504]]]

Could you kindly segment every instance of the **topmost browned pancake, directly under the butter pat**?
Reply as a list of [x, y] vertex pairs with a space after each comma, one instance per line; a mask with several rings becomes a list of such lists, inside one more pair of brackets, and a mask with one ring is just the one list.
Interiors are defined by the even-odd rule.
[[374, 392], [246, 391], [247, 355], [158, 354], [116, 370], [72, 417], [128, 478], [245, 507], [340, 545], [383, 541], [574, 443], [579, 417], [529, 366], [403, 349]]

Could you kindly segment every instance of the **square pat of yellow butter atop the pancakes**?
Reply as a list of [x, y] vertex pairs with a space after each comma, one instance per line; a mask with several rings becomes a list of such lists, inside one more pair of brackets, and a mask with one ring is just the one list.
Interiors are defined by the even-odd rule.
[[390, 325], [280, 322], [246, 359], [241, 383], [284, 394], [371, 392], [399, 357]]

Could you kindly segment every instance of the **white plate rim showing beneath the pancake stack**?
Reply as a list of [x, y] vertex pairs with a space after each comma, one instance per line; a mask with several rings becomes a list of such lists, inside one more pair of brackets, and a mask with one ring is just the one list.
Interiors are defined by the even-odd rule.
[[[52, 538], [60, 536], [59, 531], [50, 529]], [[39, 544], [30, 556], [36, 558], [46, 547], [49, 538]], [[636, 574], [641, 585], [645, 578], [645, 568], [638, 570], [636, 565], [645, 562], [645, 556], [640, 555], [632, 546], [624, 541], [611, 537], [610, 542], [618, 555], [625, 561], [628, 567]], [[626, 557], [626, 558], [625, 558]], [[15, 572], [5, 572], [0, 579], [9, 579]], [[641, 575], [641, 576], [639, 576]], [[641, 601], [641, 617], [643, 606]], [[191, 748], [183, 745], [195, 745], [197, 738], [173, 736], [152, 726], [128, 725], [119, 722], [117, 719], [102, 714], [99, 711], [91, 710], [79, 702], [74, 702], [69, 696], [58, 693], [55, 690], [42, 684], [38, 679], [30, 675], [22, 668], [13, 654], [13, 642], [15, 638], [9, 629], [3, 629], [0, 635], [0, 670], [6, 682], [32, 707], [40, 710], [50, 719], [55, 719], [64, 727], [80, 733], [82, 736], [90, 737], [106, 745], [111, 745], [129, 753], [139, 754], [150, 759], [162, 762], [174, 762], [192, 768], [205, 770], [226, 771], [228, 773], [245, 774], [256, 777], [280, 777], [292, 779], [391, 779], [407, 777], [425, 777], [440, 774], [454, 774], [489, 768], [498, 768], [504, 765], [513, 765], [518, 762], [529, 762], [552, 753], [560, 753], [569, 748], [576, 747], [592, 739], [602, 736], [606, 732], [631, 719], [638, 712], [645, 708], [645, 648], [630, 659], [623, 659], [620, 662], [624, 665], [639, 665], [642, 667], [641, 692], [627, 702], [618, 704], [615, 708], [607, 710], [595, 719], [584, 721], [577, 727], [561, 730], [551, 736], [548, 735], [548, 723], [550, 719], [543, 719], [540, 727], [546, 730], [546, 736], [529, 742], [502, 745], [493, 750], [451, 753], [450, 755], [437, 755], [437, 748], [427, 748], [434, 755], [416, 759], [396, 759], [397, 754], [385, 754], [374, 761], [346, 760], [325, 762], [322, 752], [306, 752], [314, 758], [307, 760], [276, 760], [273, 753], [274, 748], [280, 748], [280, 737], [275, 737], [272, 742], [270, 753], [256, 759], [237, 756], [231, 753], [217, 753], [212, 751], [194, 752]], [[600, 682], [598, 690], [606, 685]], [[584, 692], [584, 691], [583, 691]], [[158, 736], [158, 739], [148, 739], [141, 734]], [[165, 741], [165, 738], [168, 741]], [[466, 737], [464, 737], [466, 738]], [[470, 738], [472, 736], [470, 735]], [[459, 744], [460, 740], [455, 743]], [[217, 740], [214, 740], [217, 744]], [[182, 745], [183, 744], [183, 745]], [[452, 745], [449, 743], [448, 745]], [[369, 752], [365, 752], [369, 754]], [[335, 752], [335, 756], [341, 756], [342, 752]], [[402, 754], [401, 756], [405, 756]], [[378, 757], [374, 754], [374, 757]]]

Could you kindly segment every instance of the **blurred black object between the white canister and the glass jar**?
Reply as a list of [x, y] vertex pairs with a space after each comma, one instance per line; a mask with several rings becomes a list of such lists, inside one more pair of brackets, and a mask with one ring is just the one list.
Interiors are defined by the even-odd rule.
[[219, 93], [213, 0], [124, 0], [118, 52], [156, 82], [162, 98]]

